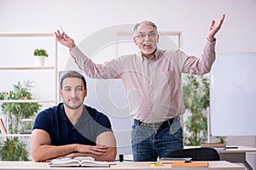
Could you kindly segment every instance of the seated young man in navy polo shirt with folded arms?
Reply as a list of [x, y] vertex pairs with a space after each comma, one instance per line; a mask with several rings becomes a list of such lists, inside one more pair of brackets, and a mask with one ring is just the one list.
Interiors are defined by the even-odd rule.
[[49, 161], [60, 157], [92, 156], [114, 161], [116, 141], [108, 117], [87, 105], [84, 77], [68, 71], [61, 77], [63, 103], [41, 111], [32, 131], [32, 158]]

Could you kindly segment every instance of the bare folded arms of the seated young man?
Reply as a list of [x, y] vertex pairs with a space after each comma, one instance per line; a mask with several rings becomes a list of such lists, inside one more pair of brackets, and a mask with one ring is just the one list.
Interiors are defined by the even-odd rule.
[[[97, 146], [86, 144], [50, 145], [49, 133], [41, 129], [32, 131], [32, 158], [34, 161], [49, 161], [61, 157], [92, 156], [96, 161], [114, 161], [116, 140], [113, 132], [98, 135]], [[107, 147], [105, 147], [107, 146]]]

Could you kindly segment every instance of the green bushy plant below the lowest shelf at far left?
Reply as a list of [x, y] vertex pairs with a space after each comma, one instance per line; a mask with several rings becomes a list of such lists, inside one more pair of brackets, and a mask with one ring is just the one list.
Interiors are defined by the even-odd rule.
[[26, 144], [17, 137], [7, 138], [3, 144], [0, 144], [0, 156], [2, 161], [29, 161]]

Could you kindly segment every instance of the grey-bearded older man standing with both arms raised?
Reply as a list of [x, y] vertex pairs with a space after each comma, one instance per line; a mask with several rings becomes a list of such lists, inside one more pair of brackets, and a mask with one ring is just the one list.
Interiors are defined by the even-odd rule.
[[134, 161], [156, 161], [173, 150], [183, 148], [183, 130], [179, 115], [185, 112], [181, 88], [182, 73], [205, 74], [215, 60], [215, 34], [224, 21], [212, 20], [202, 56], [157, 48], [159, 34], [151, 21], [134, 26], [133, 41], [140, 49], [117, 59], [95, 64], [75, 45], [65, 32], [55, 32], [58, 42], [70, 53], [88, 77], [121, 78], [130, 101], [134, 124], [131, 144]]

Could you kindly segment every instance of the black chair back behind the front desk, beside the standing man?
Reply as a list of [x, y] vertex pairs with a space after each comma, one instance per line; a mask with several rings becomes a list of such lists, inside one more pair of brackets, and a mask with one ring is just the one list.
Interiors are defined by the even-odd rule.
[[167, 157], [191, 157], [191, 161], [219, 161], [218, 151], [213, 148], [189, 148], [174, 150]]

